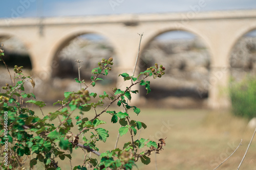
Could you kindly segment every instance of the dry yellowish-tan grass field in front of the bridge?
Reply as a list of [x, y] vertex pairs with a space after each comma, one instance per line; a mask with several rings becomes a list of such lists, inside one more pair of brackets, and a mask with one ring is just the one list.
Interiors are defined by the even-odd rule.
[[[45, 108], [44, 110], [48, 112], [49, 110], [53, 111], [52, 109]], [[40, 113], [38, 112], [38, 114]], [[86, 114], [94, 115], [90, 112]], [[135, 113], [131, 114], [133, 115], [132, 118], [147, 125], [147, 129], [141, 131], [140, 137], [151, 138], [152, 140], [167, 137], [164, 150], [156, 157], [155, 154], [151, 155], [151, 164], [137, 163], [140, 170], [155, 169], [155, 158], [157, 159], [158, 170], [214, 169], [237, 148], [243, 139], [243, 145], [238, 151], [218, 168], [218, 170], [237, 169], [254, 131], [246, 127], [245, 119], [233, 117], [228, 111], [141, 109], [139, 116], [136, 116]], [[98, 143], [99, 152], [104, 152], [114, 148], [119, 125], [112, 126], [110, 115], [102, 115], [101, 118], [107, 120], [107, 124], [102, 125], [102, 127], [105, 126], [104, 128], [108, 129], [110, 133], [110, 138], [105, 143]], [[166, 129], [164, 124], [168, 122], [172, 126]], [[124, 135], [120, 138], [119, 148], [127, 141], [127, 138], [129, 139], [130, 136]], [[256, 139], [252, 141], [241, 169], [256, 169], [255, 149]], [[95, 156], [92, 155], [92, 157]], [[73, 167], [75, 164], [82, 164], [82, 160], [81, 149], [74, 150], [72, 154]], [[61, 169], [70, 169], [68, 159], [59, 165]]]

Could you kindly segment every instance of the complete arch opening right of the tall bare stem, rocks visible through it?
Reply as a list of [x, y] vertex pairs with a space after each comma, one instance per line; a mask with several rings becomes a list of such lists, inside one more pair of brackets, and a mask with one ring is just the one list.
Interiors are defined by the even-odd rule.
[[[151, 34], [152, 36], [147, 37], [147, 42], [144, 44], [143, 50], [141, 51], [141, 59], [143, 60], [145, 59], [145, 61], [150, 62], [150, 65], [147, 64], [147, 66], [152, 66], [152, 64], [154, 65], [154, 63], [157, 62], [159, 64], [163, 64], [166, 68], [166, 71], [165, 71], [166, 75], [164, 76], [165, 78], [164, 80], [161, 80], [162, 82], [161, 88], [159, 88], [159, 85], [157, 83], [152, 82], [152, 88], [155, 88], [154, 91], [158, 91], [158, 92], [155, 94], [153, 94], [154, 93], [153, 92], [148, 95], [144, 95], [147, 99], [151, 100], [151, 99], [157, 99], [157, 98], [162, 98], [162, 99], [164, 98], [165, 101], [163, 101], [163, 103], [165, 103], [167, 106], [173, 105], [174, 107], [202, 107], [202, 106], [205, 106], [208, 97], [210, 98], [210, 96], [208, 96], [208, 94], [210, 95], [210, 93], [208, 93], [210, 88], [208, 88], [208, 86], [205, 86], [206, 84], [205, 82], [208, 82], [210, 77], [211, 55], [209, 53], [210, 51], [209, 45], [205, 43], [201, 35], [195, 33], [195, 31], [192, 32], [191, 30], [190, 31], [187, 31], [187, 30], [188, 29], [180, 29], [178, 30], [179, 32], [177, 32], [177, 30], [175, 29], [165, 28], [161, 31], [156, 32], [155, 34]], [[183, 49], [184, 51], [178, 52], [174, 48], [172, 48], [172, 46], [175, 45], [175, 42], [173, 41], [166, 41], [166, 42], [154, 41], [154, 39], [159, 35], [162, 35], [164, 33], [172, 33], [172, 32], [177, 32], [177, 34], [184, 32], [191, 35], [191, 39], [189, 38], [190, 43], [186, 43], [187, 41], [184, 42], [182, 39], [177, 41], [180, 44], [180, 45], [177, 45], [177, 47], [178, 46], [182, 47], [181, 46], [182, 41], [183, 43], [185, 43], [184, 45], [188, 45]], [[177, 38], [179, 39], [178, 36], [179, 34], [177, 35]], [[196, 39], [198, 39], [199, 41]], [[146, 57], [148, 59], [147, 60], [146, 58], [144, 58], [145, 57], [144, 51], [147, 49], [147, 47], [150, 45], [151, 42], [154, 42], [154, 44], [158, 46], [157, 47], [155, 45], [153, 46], [151, 45], [155, 50], [163, 50], [164, 48], [168, 48], [170, 51], [168, 50], [169, 52], [167, 52], [163, 50], [163, 54], [160, 53], [159, 57], [156, 56], [157, 54], [154, 55], [154, 50], [150, 51], [147, 53], [147, 55], [148, 57], [151, 56], [154, 59], [150, 59]], [[197, 45], [194, 45], [195, 43]], [[162, 46], [161, 44], [164, 45], [165, 47], [160, 47]], [[200, 50], [200, 52], [193, 52], [193, 48], [195, 49], [198, 48], [198, 45], [200, 45], [204, 49]], [[198, 48], [198, 49], [202, 49], [202, 48]], [[162, 56], [160, 57], [161, 54]], [[193, 61], [193, 58], [195, 59], [194, 60], [195, 62]], [[159, 60], [159, 61], [154, 61], [154, 60]], [[163, 61], [166, 61], [168, 63], [165, 63]], [[174, 62], [176, 64], [174, 64]], [[179, 67], [178, 65], [183, 65], [182, 66], [183, 68], [178, 68]], [[140, 66], [143, 66], [143, 65], [140, 65]], [[194, 78], [191, 78], [191, 76]], [[183, 102], [178, 102], [178, 101], [183, 101]], [[170, 103], [166, 103], [166, 102], [170, 102]]]

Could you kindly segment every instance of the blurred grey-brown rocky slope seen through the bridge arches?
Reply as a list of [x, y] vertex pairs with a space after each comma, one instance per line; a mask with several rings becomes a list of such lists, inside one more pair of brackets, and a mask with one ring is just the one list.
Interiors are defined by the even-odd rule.
[[[20, 57], [23, 57], [22, 61], [25, 63], [21, 64], [27, 64], [26, 71], [31, 74], [29, 61], [25, 60], [28, 59], [28, 54], [22, 43], [18, 43], [14, 38], [1, 40], [5, 44], [6, 60], [10, 58], [10, 61], [18, 61]], [[17, 54], [22, 54], [22, 56], [17, 56]], [[73, 81], [78, 77], [75, 59], [83, 61], [80, 63], [81, 77], [89, 80], [91, 69], [97, 67], [97, 63], [102, 58], [109, 57], [116, 58], [109, 42], [102, 39], [88, 40], [77, 37], [56, 56], [58, 67], [52, 72], [52, 80], [49, 82], [37, 80], [35, 91], [39, 98], [49, 103], [61, 99], [64, 91], [79, 88], [79, 85]], [[163, 63], [166, 75], [163, 79], [151, 81], [152, 93], [146, 95], [145, 90], [140, 90], [143, 96], [143, 100], [140, 101], [141, 105], [148, 102], [156, 107], [161, 105], [161, 107], [198, 108], [206, 105], [208, 89], [205, 89], [204, 84], [209, 78], [210, 55], [200, 39], [153, 40], [142, 52], [138, 66], [143, 70], [155, 63]], [[118, 61], [115, 60], [115, 64], [118, 65]], [[256, 74], [256, 38], [243, 37], [233, 47], [230, 65], [231, 76], [236, 81], [242, 80], [248, 73]], [[14, 63], [10, 63], [10, 66], [14, 66]], [[4, 69], [2, 67], [0, 72], [1, 86], [9, 81], [9, 75]], [[118, 74], [119, 72], [113, 69], [108, 79], [97, 85], [98, 92], [111, 91], [116, 84]]]

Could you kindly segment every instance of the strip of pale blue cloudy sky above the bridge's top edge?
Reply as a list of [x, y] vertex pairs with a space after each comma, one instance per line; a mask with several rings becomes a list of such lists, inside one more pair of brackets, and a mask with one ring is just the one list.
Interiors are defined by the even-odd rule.
[[0, 18], [256, 9], [255, 0], [2, 0]]

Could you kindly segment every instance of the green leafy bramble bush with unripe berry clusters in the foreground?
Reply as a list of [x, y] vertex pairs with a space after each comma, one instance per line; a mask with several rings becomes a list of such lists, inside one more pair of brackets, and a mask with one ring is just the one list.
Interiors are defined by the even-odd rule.
[[[4, 62], [3, 56], [4, 51], [1, 50], [0, 57]], [[79, 61], [77, 62], [79, 65]], [[93, 76], [90, 83], [81, 81], [80, 76], [79, 79], [76, 78], [75, 81], [84, 85], [84, 88], [75, 92], [65, 92], [65, 98], [54, 103], [54, 105], [60, 104], [60, 107], [48, 114], [44, 114], [41, 109], [46, 106], [45, 102], [37, 101], [34, 92], [25, 92], [25, 83], [30, 82], [34, 88], [33, 78], [23, 75], [22, 66], [15, 66], [14, 77], [11, 76], [7, 68], [12, 85], [6, 84], [3, 87], [5, 92], [0, 93], [2, 146], [0, 156], [3, 157], [0, 163], [1, 167], [3, 169], [23, 169], [25, 163], [28, 162], [30, 168], [33, 168], [38, 162], [42, 162], [46, 169], [60, 169], [56, 158], [59, 158], [60, 161], [72, 159], [72, 150], [79, 147], [96, 154], [99, 159], [85, 157], [84, 161], [80, 165], [73, 166], [73, 169], [87, 169], [88, 165], [94, 169], [132, 169], [138, 160], [144, 164], [150, 163], [149, 156], [153, 152], [159, 153], [165, 145], [165, 141], [164, 139], [157, 142], [144, 138], [134, 139], [137, 131], [141, 128], [146, 129], [146, 125], [130, 118], [130, 114], [132, 114], [130, 112], [139, 114], [140, 109], [131, 106], [128, 101], [131, 101], [132, 93], [139, 92], [131, 89], [135, 85], [145, 86], [147, 93], [151, 92], [150, 82], [146, 79], [151, 76], [161, 78], [165, 68], [155, 64], [155, 66], [140, 72], [137, 77], [124, 72], [119, 76], [124, 81], [131, 81], [129, 87], [113, 88], [112, 94], [107, 94], [105, 91], [100, 95], [90, 92], [88, 87], [94, 87], [97, 81], [102, 81], [103, 79], [99, 76], [107, 76], [112, 65], [113, 58], [102, 59], [98, 63], [98, 67], [92, 70]], [[91, 102], [91, 98], [97, 99], [97, 102]], [[28, 107], [29, 104], [39, 107], [44, 117], [38, 117], [33, 109]], [[103, 104], [106, 104], [104, 108]], [[114, 104], [123, 107], [123, 111], [110, 110], [110, 106]], [[98, 107], [102, 108], [100, 112], [96, 110]], [[95, 114], [87, 114], [86, 117], [83, 117], [83, 113], [91, 109], [95, 111]], [[74, 116], [75, 110], [78, 110], [80, 114]], [[106, 124], [104, 120], [100, 119], [102, 114], [109, 114], [111, 123], [121, 125], [120, 136], [130, 133], [131, 139], [123, 145], [123, 148], [115, 148], [112, 151], [99, 151], [97, 148], [99, 141], [105, 142], [109, 137], [108, 130], [98, 127]], [[57, 125], [53, 123], [55, 119], [59, 122]], [[71, 132], [71, 128], [74, 126], [78, 128], [78, 134]], [[81, 137], [82, 134], [88, 135]], [[79, 143], [78, 139], [80, 142], [82, 139], [83, 143]], [[141, 149], [144, 151], [139, 152]]]

